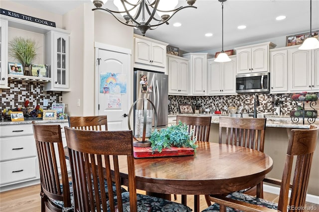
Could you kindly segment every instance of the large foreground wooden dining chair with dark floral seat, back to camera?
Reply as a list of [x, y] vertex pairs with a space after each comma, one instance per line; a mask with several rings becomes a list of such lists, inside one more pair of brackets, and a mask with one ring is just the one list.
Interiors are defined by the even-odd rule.
[[[132, 130], [88, 131], [65, 128], [74, 185], [74, 207], [78, 212], [188, 212], [186, 206], [136, 193]], [[128, 163], [128, 187], [121, 193], [120, 163]], [[106, 178], [108, 191], [103, 190]], [[112, 187], [115, 182], [115, 187]], [[101, 192], [93, 193], [101, 184]], [[95, 190], [96, 191], [96, 190]], [[106, 192], [106, 193], [104, 193]], [[116, 195], [114, 195], [114, 193]], [[109, 196], [107, 201], [106, 194]]]

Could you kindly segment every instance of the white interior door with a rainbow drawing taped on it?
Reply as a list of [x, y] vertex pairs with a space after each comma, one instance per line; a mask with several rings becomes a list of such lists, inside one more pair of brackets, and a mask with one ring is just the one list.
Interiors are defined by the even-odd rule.
[[98, 115], [107, 115], [109, 130], [126, 130], [130, 110], [130, 58], [121, 52], [97, 51]]

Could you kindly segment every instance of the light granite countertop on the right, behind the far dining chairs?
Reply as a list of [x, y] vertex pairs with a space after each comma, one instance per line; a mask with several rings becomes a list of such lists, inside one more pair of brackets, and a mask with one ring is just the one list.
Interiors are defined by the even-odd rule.
[[[182, 114], [182, 115], [210, 115], [211, 123], [219, 123], [219, 116], [217, 114]], [[174, 117], [176, 115], [168, 115], [168, 117]], [[223, 115], [229, 116], [229, 115]], [[266, 126], [267, 127], [281, 127], [281, 128], [300, 128], [300, 129], [308, 129], [309, 123], [308, 119], [305, 118], [305, 124], [303, 124], [303, 119], [300, 118], [298, 123], [293, 123], [291, 117], [289, 115], [265, 115], [267, 118]], [[319, 125], [319, 118], [314, 122]]]

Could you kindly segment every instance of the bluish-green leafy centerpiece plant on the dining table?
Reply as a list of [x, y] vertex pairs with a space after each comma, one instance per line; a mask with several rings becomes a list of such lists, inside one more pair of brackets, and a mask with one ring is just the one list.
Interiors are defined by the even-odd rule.
[[149, 141], [151, 142], [152, 151], [161, 152], [164, 148], [174, 147], [190, 147], [196, 151], [196, 138], [190, 139], [193, 131], [188, 133], [187, 125], [181, 121], [158, 131], [155, 129]]

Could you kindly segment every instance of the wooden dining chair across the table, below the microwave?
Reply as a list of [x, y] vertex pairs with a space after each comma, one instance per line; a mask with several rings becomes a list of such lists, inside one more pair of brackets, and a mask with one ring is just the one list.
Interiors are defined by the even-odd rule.
[[[264, 152], [266, 118], [219, 117], [219, 143], [243, 146]], [[263, 198], [263, 182], [241, 192]], [[208, 206], [209, 195], [205, 195]]]

